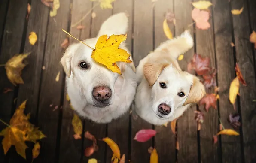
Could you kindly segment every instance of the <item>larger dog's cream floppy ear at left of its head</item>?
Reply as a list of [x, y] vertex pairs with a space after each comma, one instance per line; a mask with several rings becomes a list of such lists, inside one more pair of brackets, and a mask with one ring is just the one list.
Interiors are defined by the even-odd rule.
[[76, 48], [78, 47], [79, 43], [70, 45], [65, 53], [63, 54], [63, 57], [61, 58], [61, 65], [64, 68], [64, 71], [69, 78], [71, 75], [71, 60], [73, 58], [73, 55], [76, 51]]

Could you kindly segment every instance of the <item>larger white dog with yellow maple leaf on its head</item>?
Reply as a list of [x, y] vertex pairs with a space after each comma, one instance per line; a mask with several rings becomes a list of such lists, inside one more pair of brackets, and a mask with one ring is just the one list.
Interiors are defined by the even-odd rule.
[[[104, 21], [96, 38], [83, 42], [95, 47], [98, 37], [125, 34], [127, 28], [128, 18], [125, 13], [119, 13]], [[129, 53], [123, 43], [119, 48]], [[61, 58], [67, 75], [67, 93], [80, 116], [98, 123], [108, 123], [128, 111], [137, 87], [136, 69], [133, 63], [118, 62], [122, 72], [119, 75], [96, 63], [91, 53], [92, 49], [82, 43], [67, 48]]]

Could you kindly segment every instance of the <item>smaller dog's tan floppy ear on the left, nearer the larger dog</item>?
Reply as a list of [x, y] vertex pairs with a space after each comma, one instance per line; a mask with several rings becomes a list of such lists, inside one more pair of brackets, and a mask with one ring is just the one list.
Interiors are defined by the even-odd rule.
[[150, 87], [155, 84], [155, 81], [157, 80], [162, 70], [168, 65], [169, 63], [167, 62], [163, 62], [163, 63], [155, 62], [155, 63], [146, 63], [143, 66], [143, 72]]

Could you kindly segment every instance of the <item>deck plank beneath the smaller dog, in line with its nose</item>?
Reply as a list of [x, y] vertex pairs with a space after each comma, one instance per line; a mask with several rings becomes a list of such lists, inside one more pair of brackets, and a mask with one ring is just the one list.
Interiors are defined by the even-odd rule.
[[[168, 10], [173, 12], [173, 3], [173, 0], [160, 0], [155, 3], [155, 48], [168, 40], [163, 30], [163, 21]], [[174, 24], [169, 25], [169, 27], [171, 32], [174, 33]], [[171, 131], [170, 123], [167, 127], [155, 126], [155, 130], [158, 131], [155, 136], [155, 148], [158, 152], [159, 163], [174, 163], [176, 160], [176, 136]]]

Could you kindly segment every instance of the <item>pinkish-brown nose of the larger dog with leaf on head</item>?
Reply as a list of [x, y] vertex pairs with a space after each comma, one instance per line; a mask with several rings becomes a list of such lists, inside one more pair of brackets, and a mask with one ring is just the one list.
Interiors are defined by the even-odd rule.
[[112, 95], [112, 91], [108, 87], [95, 87], [92, 96], [99, 102], [107, 101]]

